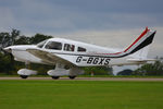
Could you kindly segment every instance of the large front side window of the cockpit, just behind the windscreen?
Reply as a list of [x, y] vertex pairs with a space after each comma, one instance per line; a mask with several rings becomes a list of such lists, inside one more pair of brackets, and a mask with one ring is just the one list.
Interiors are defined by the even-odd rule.
[[49, 41], [46, 47], [47, 49], [54, 49], [54, 50], [61, 50], [62, 44], [57, 41]]

